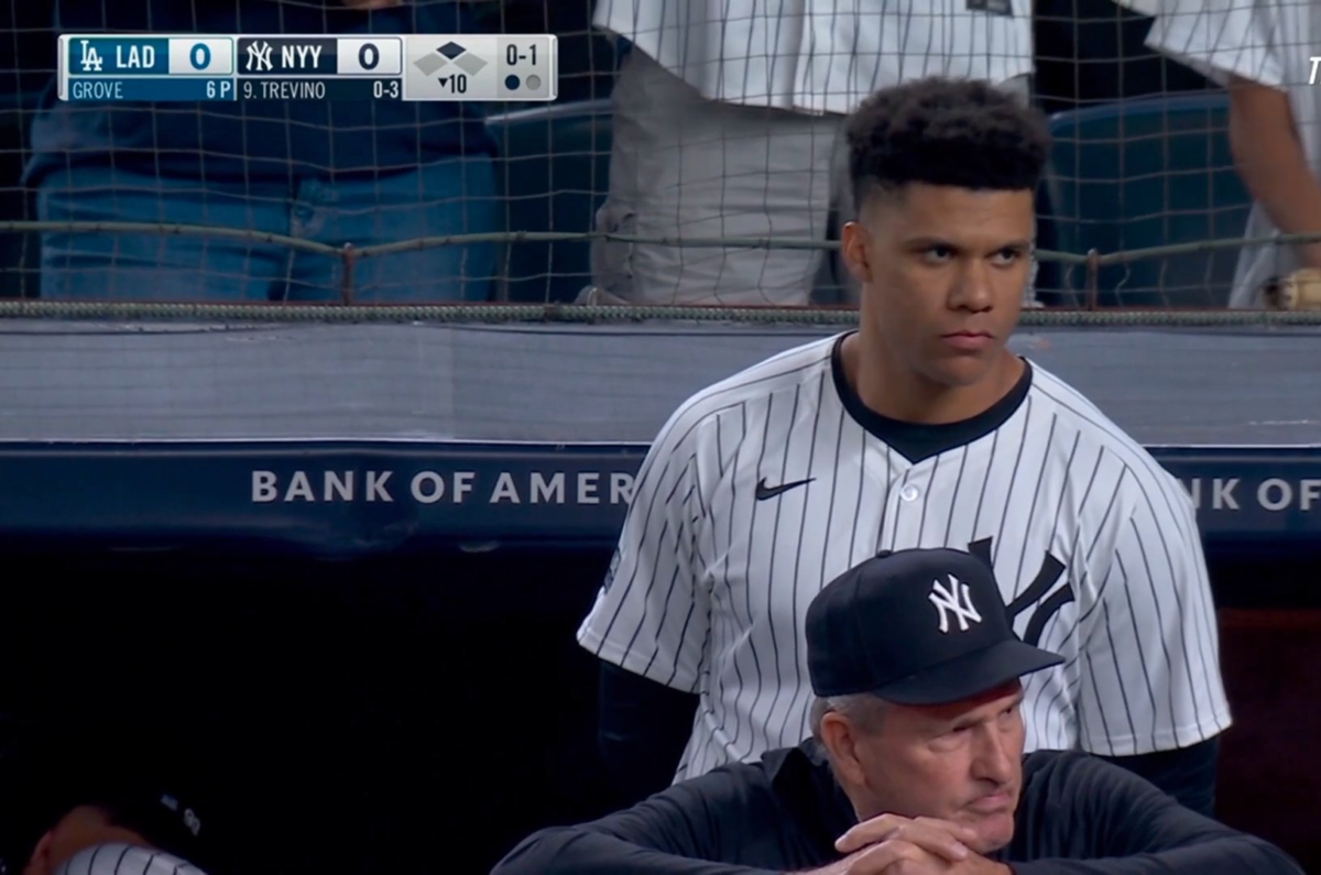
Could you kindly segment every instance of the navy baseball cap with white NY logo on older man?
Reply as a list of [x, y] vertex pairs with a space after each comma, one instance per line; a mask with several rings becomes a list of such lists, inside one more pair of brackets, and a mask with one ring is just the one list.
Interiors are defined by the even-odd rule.
[[881, 552], [807, 608], [807, 671], [819, 697], [943, 704], [1061, 662], [1015, 634], [995, 574], [959, 550]]

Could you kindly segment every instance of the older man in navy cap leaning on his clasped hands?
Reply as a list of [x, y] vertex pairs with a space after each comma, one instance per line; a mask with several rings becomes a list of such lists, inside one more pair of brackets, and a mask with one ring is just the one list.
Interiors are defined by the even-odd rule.
[[812, 739], [540, 831], [493, 875], [1303, 871], [1118, 765], [1024, 756], [1020, 678], [1061, 657], [1015, 636], [971, 554], [882, 552], [806, 627]]

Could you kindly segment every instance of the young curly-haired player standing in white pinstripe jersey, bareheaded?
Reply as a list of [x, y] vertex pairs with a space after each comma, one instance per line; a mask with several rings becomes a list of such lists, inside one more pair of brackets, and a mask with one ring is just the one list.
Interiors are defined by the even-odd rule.
[[[1230, 726], [1192, 501], [1133, 439], [1007, 349], [1044, 118], [984, 83], [885, 89], [849, 119], [860, 325], [709, 386], [662, 427], [579, 642], [633, 797], [797, 744], [803, 615], [880, 550], [993, 564], [1033, 675], [1028, 751], [1112, 757], [1210, 810]], [[970, 605], [941, 596], [951, 624]]]

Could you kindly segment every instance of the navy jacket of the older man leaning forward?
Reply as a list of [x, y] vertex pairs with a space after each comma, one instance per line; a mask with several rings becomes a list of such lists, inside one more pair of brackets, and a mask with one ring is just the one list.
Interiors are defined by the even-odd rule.
[[[773, 875], [840, 859], [856, 823], [820, 748], [725, 765], [581, 826], [543, 830], [493, 875]], [[1127, 769], [1077, 752], [1024, 757], [1017, 875], [1303, 875], [1279, 849], [1190, 812]]]

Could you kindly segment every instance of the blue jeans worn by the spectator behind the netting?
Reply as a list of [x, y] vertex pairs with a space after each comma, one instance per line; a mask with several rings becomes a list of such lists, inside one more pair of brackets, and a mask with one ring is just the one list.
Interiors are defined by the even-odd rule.
[[[82, 165], [46, 176], [44, 221], [166, 222], [248, 229], [363, 247], [499, 230], [491, 161], [465, 157], [376, 180], [295, 189], [184, 182]], [[354, 303], [490, 300], [495, 243], [361, 258]], [[41, 297], [119, 301], [338, 301], [342, 260], [272, 243], [144, 234], [42, 235]]]

